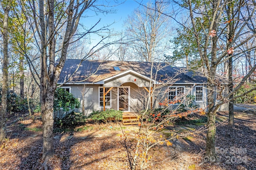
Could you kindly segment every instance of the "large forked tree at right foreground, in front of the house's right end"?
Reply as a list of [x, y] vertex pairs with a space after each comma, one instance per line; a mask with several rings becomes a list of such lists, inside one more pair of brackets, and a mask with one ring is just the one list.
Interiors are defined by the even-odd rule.
[[[205, 158], [207, 161], [216, 162], [216, 111], [223, 103], [232, 101], [238, 97], [232, 97], [232, 95], [244, 84], [246, 79], [250, 77], [250, 75], [256, 69], [256, 65], [251, 67], [250, 71], [248, 71], [248, 74], [246, 74], [240, 81], [239, 85], [237, 85], [237, 87], [234, 89], [230, 88], [230, 91], [226, 97], [224, 97], [222, 101], [219, 101], [218, 103], [216, 103], [216, 98], [214, 97], [216, 88], [218, 86], [218, 81], [216, 79], [216, 69], [218, 65], [227, 60], [229, 60], [229, 63], [231, 64], [231, 57], [239, 56], [247, 51], [256, 49], [256, 47], [253, 46], [250, 49], [246, 49], [246, 51], [240, 50], [240, 47], [242, 47], [246, 42], [252, 40], [256, 36], [255, 32], [248, 29], [247, 26], [247, 23], [255, 17], [256, 4], [250, 3], [250, 8], [246, 8], [246, 4], [248, 2], [242, 0], [238, 2], [230, 2], [228, 0], [214, 0], [209, 4], [206, 2], [192, 2], [191, 0], [188, 0], [185, 3], [186, 5], [183, 7], [187, 7], [188, 9], [189, 17], [192, 23], [192, 29], [186, 28], [184, 24], [180, 24], [184, 28], [192, 30], [197, 43], [198, 52], [200, 54], [202, 63], [204, 64], [203, 72], [208, 78], [207, 116], [209, 130], [206, 137]], [[228, 11], [228, 14], [226, 15], [226, 13], [224, 13], [225, 8], [233, 9], [232, 11]], [[223, 20], [223, 15], [233, 18], [229, 18], [229, 20]], [[254, 25], [251, 22], [250, 24]], [[232, 67], [232, 65], [230, 65], [230, 67]], [[230, 69], [230, 71], [232, 70]], [[232, 73], [230, 72], [230, 74]], [[231, 84], [232, 83], [230, 80], [230, 86]], [[250, 91], [253, 91], [254, 89], [255, 88], [252, 88]]]

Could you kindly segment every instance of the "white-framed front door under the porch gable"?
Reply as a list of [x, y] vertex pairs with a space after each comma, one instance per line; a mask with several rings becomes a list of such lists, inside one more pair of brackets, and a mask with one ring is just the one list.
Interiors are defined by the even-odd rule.
[[118, 87], [118, 109], [130, 111], [130, 87]]

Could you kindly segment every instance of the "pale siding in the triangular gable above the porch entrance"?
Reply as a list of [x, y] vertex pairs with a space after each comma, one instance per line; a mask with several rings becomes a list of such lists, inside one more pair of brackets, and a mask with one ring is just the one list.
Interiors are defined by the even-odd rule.
[[[136, 81], [134, 81], [136, 79]], [[138, 87], [148, 87], [149, 81], [143, 79], [142, 77], [138, 77], [137, 75], [127, 73], [125, 75], [116, 77], [114, 80], [105, 81], [105, 87], [119, 87], [123, 83], [132, 82], [135, 83]]]

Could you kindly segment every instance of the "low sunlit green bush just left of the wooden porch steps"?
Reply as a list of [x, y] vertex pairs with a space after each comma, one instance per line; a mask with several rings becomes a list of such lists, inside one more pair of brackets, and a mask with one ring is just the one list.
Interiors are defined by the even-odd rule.
[[122, 120], [122, 111], [116, 111], [114, 109], [106, 110], [106, 111], [93, 111], [90, 116], [90, 119], [93, 121], [100, 123], [101, 121], [104, 123], [110, 123], [111, 121], [120, 121]]

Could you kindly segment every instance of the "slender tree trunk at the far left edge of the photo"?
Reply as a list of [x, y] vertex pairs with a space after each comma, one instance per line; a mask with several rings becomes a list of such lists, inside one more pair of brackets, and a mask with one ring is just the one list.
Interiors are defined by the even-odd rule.
[[[1, 2], [2, 3], [2, 2]], [[10, 1], [8, 1], [4, 9], [4, 22], [3, 22], [3, 80], [2, 80], [2, 99], [0, 110], [0, 141], [4, 140], [6, 136], [6, 109], [7, 109], [7, 91], [8, 91], [8, 18], [10, 11]]]

